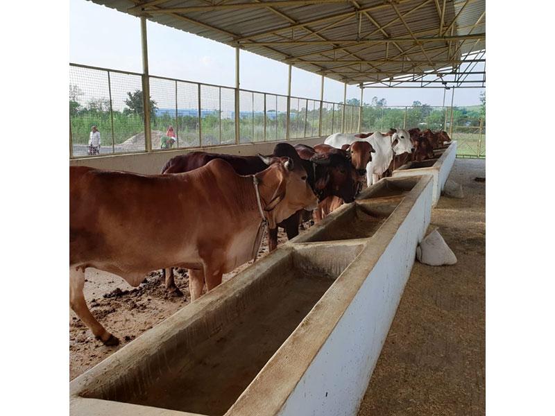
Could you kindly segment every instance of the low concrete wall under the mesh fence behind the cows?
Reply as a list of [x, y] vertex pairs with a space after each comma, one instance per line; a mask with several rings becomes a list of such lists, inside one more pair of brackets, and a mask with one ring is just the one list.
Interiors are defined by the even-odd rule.
[[[326, 136], [311, 139], [292, 139], [291, 144], [303, 143], [309, 146], [321, 144]], [[285, 141], [285, 140], [282, 140]], [[69, 159], [69, 166], [91, 166], [92, 168], [108, 169], [112, 171], [128, 171], [142, 173], [143, 175], [156, 175], [160, 173], [164, 164], [174, 156], [202, 150], [210, 153], [227, 153], [228, 155], [253, 156], [257, 153], [268, 155], [280, 141], [264, 141], [257, 143], [223, 145], [197, 148], [180, 148], [175, 150], [154, 150], [151, 153], [129, 153], [126, 155], [108, 155], [81, 157]]]

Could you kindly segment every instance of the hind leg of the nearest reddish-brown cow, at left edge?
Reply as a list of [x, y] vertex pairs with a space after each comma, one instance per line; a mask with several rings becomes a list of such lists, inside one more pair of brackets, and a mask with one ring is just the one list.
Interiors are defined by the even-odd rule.
[[89, 327], [96, 339], [101, 340], [104, 345], [118, 345], [119, 339], [106, 331], [99, 321], [94, 318], [85, 302], [83, 287], [85, 286], [85, 270], [69, 268], [69, 306], [77, 314], [80, 320]]

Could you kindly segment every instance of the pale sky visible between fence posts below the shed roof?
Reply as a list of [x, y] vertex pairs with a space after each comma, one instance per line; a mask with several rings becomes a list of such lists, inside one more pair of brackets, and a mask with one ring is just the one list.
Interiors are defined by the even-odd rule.
[[[147, 20], [148, 70], [151, 75], [234, 87], [235, 51], [231, 46]], [[287, 94], [287, 64], [248, 51], [240, 52], [239, 84], [273, 94]], [[69, 60], [94, 67], [142, 72], [138, 17], [86, 0], [69, 3]], [[479, 64], [482, 65], [482, 64]], [[477, 71], [481, 70], [478, 67]], [[321, 76], [293, 67], [291, 95], [320, 98]], [[457, 89], [454, 105], [478, 105], [483, 89]], [[387, 105], [420, 101], [442, 105], [443, 89], [365, 88], [364, 102], [373, 96]], [[347, 98], [360, 98], [360, 89], [348, 85]], [[343, 101], [343, 83], [325, 78], [324, 101]], [[449, 105], [451, 92], [445, 104]]]

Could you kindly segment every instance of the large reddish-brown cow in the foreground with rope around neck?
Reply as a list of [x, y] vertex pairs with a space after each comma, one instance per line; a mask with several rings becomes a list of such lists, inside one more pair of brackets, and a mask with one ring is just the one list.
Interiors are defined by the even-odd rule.
[[[221, 283], [222, 274], [253, 259], [269, 225], [316, 196], [304, 169], [288, 157], [267, 159], [261, 173], [241, 176], [221, 159], [176, 175], [137, 175], [69, 168], [69, 302], [105, 345], [119, 340], [90, 313], [83, 286], [94, 267], [139, 286], [151, 270], [190, 270], [191, 299]], [[260, 199], [257, 202], [257, 194]], [[171, 221], [160, 218], [160, 206]]]

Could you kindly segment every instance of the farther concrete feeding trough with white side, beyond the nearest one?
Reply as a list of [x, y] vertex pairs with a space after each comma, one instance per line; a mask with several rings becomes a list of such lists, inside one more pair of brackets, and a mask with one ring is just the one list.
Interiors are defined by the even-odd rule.
[[436, 159], [424, 160], [422, 162], [409, 162], [393, 171], [393, 177], [407, 177], [413, 175], [432, 175], [434, 178], [433, 204], [438, 203], [445, 181], [451, 172], [456, 157], [456, 141], [451, 141], [444, 148], [434, 150]]

